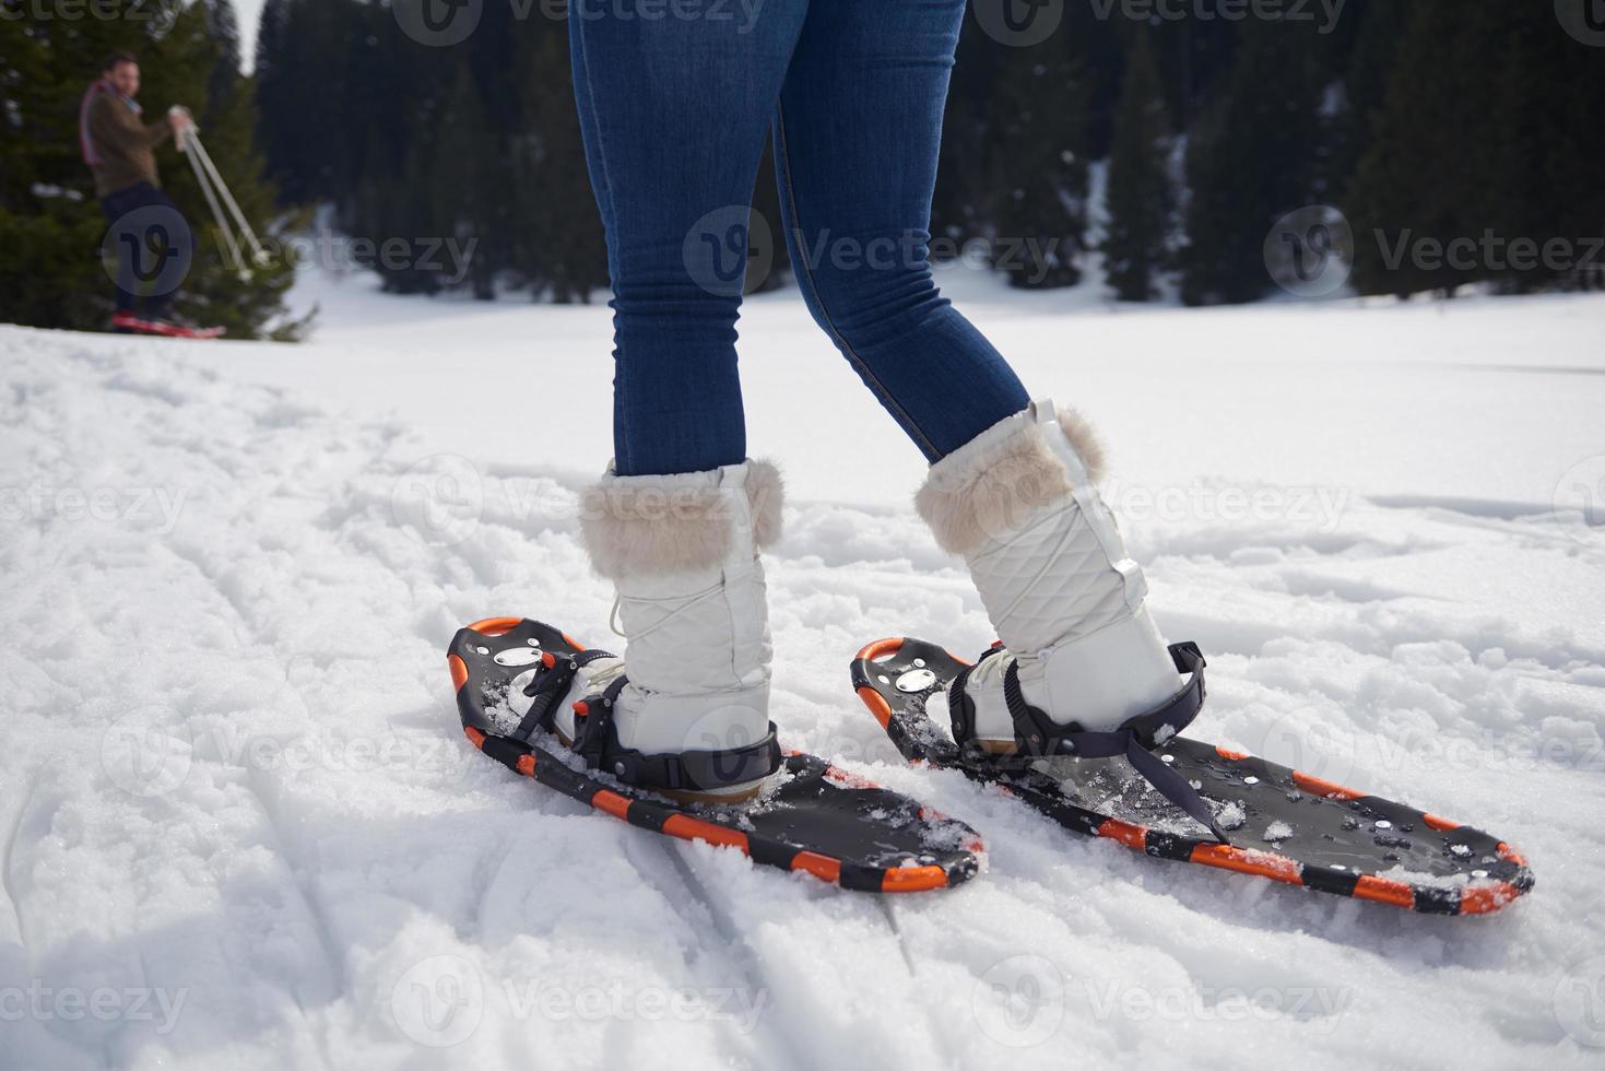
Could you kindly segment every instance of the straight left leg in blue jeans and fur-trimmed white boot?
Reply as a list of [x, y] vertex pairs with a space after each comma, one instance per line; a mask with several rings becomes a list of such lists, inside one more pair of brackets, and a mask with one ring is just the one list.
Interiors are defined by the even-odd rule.
[[[782, 488], [774, 466], [746, 458], [735, 318], [764, 133], [804, 10], [769, 0], [745, 22], [724, 5], [576, 0], [570, 13], [616, 345], [615, 464], [584, 495], [581, 536], [618, 593], [628, 678], [610, 676], [616, 660], [589, 662], [552, 727], [589, 737], [608, 718], [597, 764], [682, 796], [751, 796], [780, 761], [759, 551], [778, 538]], [[607, 681], [581, 723], [576, 697]]]

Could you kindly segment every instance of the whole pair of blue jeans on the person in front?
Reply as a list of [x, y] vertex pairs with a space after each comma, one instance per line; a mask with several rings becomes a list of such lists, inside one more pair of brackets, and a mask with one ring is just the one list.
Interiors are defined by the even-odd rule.
[[621, 475], [746, 458], [735, 321], [770, 130], [809, 312], [926, 458], [1026, 408], [928, 260], [963, 14], [965, 0], [571, 0]]

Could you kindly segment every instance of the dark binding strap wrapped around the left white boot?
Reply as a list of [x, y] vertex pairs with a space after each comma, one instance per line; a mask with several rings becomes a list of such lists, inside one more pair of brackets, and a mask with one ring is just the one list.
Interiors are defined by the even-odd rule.
[[613, 710], [628, 684], [629, 678], [620, 676], [600, 695], [575, 703], [571, 750], [591, 769], [613, 774], [626, 785], [669, 792], [717, 792], [762, 780], [780, 769], [780, 740], [772, 721], [762, 740], [740, 748], [644, 755], [623, 747], [613, 724]]

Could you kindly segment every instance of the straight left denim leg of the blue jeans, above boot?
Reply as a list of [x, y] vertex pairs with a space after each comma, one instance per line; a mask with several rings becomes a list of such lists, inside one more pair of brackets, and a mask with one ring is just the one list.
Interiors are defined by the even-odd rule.
[[746, 458], [746, 209], [806, 0], [575, 0], [575, 96], [613, 278], [621, 475]]

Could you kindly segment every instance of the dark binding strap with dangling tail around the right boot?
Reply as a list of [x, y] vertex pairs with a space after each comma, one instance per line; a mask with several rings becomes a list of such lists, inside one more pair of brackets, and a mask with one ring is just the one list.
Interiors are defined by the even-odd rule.
[[[1003, 650], [1002, 645], [993, 645], [981, 655], [976, 666], [1003, 654]], [[1019, 665], [1011, 662], [1003, 670], [1003, 702], [1014, 719], [1016, 753], [1010, 758], [989, 755], [974, 745], [974, 702], [965, 694], [965, 686], [976, 666], [966, 666], [947, 690], [947, 710], [953, 723], [953, 740], [961, 748], [961, 761], [1003, 766], [1008, 763], [1030, 764], [1056, 755], [1074, 758], [1124, 756], [1159, 795], [1207, 827], [1215, 840], [1229, 845], [1231, 841], [1226, 840], [1226, 833], [1221, 832], [1197, 790], [1152, 753], [1152, 748], [1193, 724], [1193, 719], [1204, 708], [1204, 666], [1209, 663], [1197, 644], [1172, 644], [1170, 658], [1176, 665], [1176, 673], [1189, 674], [1188, 684], [1154, 710], [1130, 718], [1119, 729], [1098, 732], [1083, 729], [1074, 721], [1061, 726], [1027, 703], [1019, 686]]]

